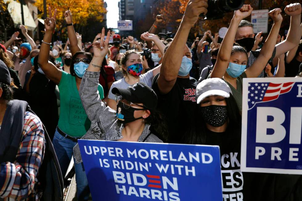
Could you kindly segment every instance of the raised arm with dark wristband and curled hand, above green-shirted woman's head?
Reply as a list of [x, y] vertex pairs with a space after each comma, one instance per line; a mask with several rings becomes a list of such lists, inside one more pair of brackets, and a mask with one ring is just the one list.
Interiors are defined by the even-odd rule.
[[76, 32], [72, 24], [72, 15], [70, 10], [64, 12], [65, 21], [67, 23], [67, 32], [70, 44], [71, 54], [74, 55], [76, 52], [81, 51], [78, 45], [78, 39], [76, 38]]

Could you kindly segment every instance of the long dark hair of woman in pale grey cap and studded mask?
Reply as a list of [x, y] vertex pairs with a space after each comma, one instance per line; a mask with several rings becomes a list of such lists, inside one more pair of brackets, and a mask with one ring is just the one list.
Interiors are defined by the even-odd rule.
[[[232, 133], [228, 131], [241, 129], [241, 112], [232, 94], [230, 94], [230, 98], [225, 98], [225, 100], [228, 115], [227, 133]], [[201, 116], [201, 110], [198, 110], [198, 117]], [[182, 142], [185, 144], [206, 144], [206, 130], [204, 120], [202, 118], [196, 118], [194, 126], [183, 135]]]

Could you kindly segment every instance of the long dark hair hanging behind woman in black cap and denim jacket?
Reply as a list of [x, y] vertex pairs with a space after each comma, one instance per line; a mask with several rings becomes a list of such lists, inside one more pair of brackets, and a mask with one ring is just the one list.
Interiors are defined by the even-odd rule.
[[164, 142], [168, 140], [168, 126], [165, 122], [163, 115], [157, 110], [151, 110], [150, 116], [145, 120], [146, 124], [150, 124], [150, 131], [152, 134], [156, 135], [159, 139]]

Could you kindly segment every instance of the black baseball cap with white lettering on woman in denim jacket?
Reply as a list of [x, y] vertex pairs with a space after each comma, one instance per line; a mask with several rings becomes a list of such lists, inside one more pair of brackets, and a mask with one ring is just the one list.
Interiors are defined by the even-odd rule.
[[143, 103], [149, 110], [153, 110], [157, 106], [157, 95], [153, 89], [142, 82], [137, 82], [127, 89], [114, 87], [111, 92], [115, 95], [121, 95], [122, 98], [132, 103]]

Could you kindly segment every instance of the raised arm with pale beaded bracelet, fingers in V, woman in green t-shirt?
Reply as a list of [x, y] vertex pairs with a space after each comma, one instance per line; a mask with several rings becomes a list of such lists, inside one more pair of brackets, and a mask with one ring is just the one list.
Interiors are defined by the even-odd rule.
[[55, 84], [59, 84], [62, 77], [62, 71], [59, 70], [57, 67], [55, 67], [53, 63], [48, 61], [50, 45], [45, 43], [45, 42], [51, 43], [52, 33], [55, 30], [57, 9], [55, 9], [53, 17], [50, 7], [48, 7], [48, 12], [49, 12], [49, 17], [47, 17], [44, 20], [44, 26], [45, 26], [45, 34], [43, 38], [44, 42], [41, 43], [38, 63], [39, 66], [42, 68], [43, 72], [45, 73], [45, 75], [53, 82], [55, 82]]

